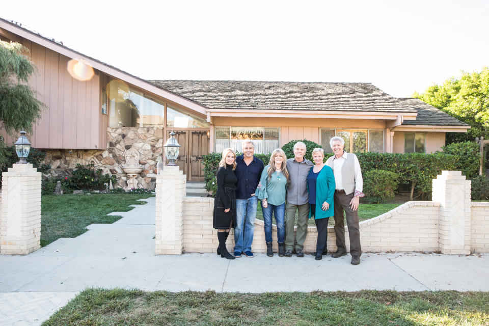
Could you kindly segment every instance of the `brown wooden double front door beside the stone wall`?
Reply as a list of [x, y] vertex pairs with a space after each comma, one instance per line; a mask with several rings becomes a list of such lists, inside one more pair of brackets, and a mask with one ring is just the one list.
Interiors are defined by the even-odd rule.
[[[171, 130], [167, 130], [167, 139]], [[175, 138], [180, 145], [180, 153], [177, 157], [177, 165], [187, 181], [204, 181], [204, 165], [202, 157], [209, 153], [209, 139], [207, 130], [174, 130]], [[168, 159], [167, 159], [168, 164]]]

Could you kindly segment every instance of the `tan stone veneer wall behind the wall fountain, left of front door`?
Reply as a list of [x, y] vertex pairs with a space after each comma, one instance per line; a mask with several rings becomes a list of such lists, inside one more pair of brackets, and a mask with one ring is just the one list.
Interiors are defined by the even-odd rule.
[[102, 169], [103, 174], [117, 175], [114, 187], [125, 187], [128, 177], [121, 166], [125, 164], [124, 152], [130, 148], [138, 150], [140, 164], [144, 166], [143, 172], [136, 177], [139, 186], [153, 190], [156, 162], [162, 158], [163, 128], [109, 127], [106, 150], [45, 150], [44, 163], [51, 165], [48, 177], [64, 177], [70, 175], [77, 164], [93, 162], [95, 169]]

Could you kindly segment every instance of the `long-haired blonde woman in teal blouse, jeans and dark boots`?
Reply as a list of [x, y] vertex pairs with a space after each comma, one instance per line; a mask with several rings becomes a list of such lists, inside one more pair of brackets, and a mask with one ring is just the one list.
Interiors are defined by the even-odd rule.
[[272, 257], [271, 222], [272, 213], [277, 223], [277, 242], [279, 243], [279, 256], [285, 254], [285, 193], [289, 181], [289, 173], [286, 169], [287, 156], [280, 148], [270, 155], [268, 165], [261, 173], [260, 183], [255, 195], [261, 201], [263, 222], [265, 225], [266, 255]]

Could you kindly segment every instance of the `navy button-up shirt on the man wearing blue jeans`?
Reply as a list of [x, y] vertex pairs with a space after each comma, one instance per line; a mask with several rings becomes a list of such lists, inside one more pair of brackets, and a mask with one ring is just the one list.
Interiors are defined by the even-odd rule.
[[234, 173], [238, 178], [237, 199], [251, 198], [251, 194], [255, 193], [256, 187], [260, 182], [261, 172], [264, 167], [261, 159], [256, 158], [255, 155], [253, 155], [250, 165], [246, 165], [243, 159], [244, 155], [236, 157], [236, 170], [234, 170]]

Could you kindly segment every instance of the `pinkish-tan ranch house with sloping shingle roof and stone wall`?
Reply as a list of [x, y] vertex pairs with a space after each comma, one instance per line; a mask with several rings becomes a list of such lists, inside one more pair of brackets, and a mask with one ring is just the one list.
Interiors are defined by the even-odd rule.
[[[162, 145], [174, 130], [178, 164], [188, 181], [202, 181], [202, 155], [253, 139], [267, 153], [291, 140], [329, 148], [388, 153], [441, 150], [445, 132], [469, 125], [416, 98], [395, 98], [369, 83], [144, 80], [83, 55], [20, 24], [0, 19], [0, 39], [23, 44], [38, 71], [31, 86], [47, 110], [29, 136], [47, 153], [53, 175], [93, 162], [127, 176], [125, 153], [139, 153], [143, 187], [154, 187]], [[8, 144], [13, 137], [2, 133]]]

